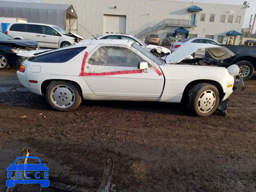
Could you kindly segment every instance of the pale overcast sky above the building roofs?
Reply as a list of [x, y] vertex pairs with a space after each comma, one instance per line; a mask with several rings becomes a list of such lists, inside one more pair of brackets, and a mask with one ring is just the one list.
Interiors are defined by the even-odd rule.
[[[24, 2], [37, 2], [39, 3], [40, 0], [8, 0], [8, 1], [24, 1]], [[189, 0], [182, 0], [182, 1], [189, 1]], [[244, 3], [245, 0], [190, 0], [194, 1], [194, 2], [205, 2], [205, 3], [224, 3], [224, 4], [240, 4], [242, 5]], [[247, 0], [250, 3], [250, 8], [246, 9], [246, 14], [245, 14], [245, 18], [244, 18], [244, 24], [243, 27], [246, 26], [246, 24], [249, 24], [250, 22], [250, 17], [251, 15], [253, 15], [256, 13], [256, 0]], [[248, 25], [247, 25], [248, 27]]]

